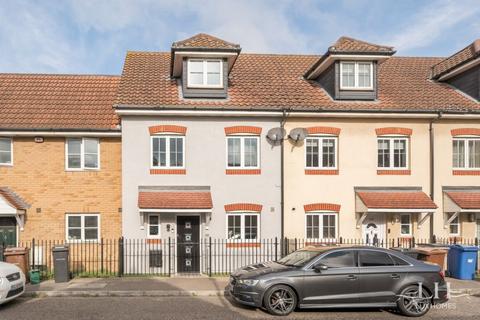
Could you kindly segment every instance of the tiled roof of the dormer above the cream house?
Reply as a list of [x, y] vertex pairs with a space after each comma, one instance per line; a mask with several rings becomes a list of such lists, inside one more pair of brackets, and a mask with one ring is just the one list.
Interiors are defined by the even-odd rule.
[[340, 37], [327, 52], [305, 72], [306, 79], [316, 79], [336, 60], [384, 61], [395, 54], [393, 47]]

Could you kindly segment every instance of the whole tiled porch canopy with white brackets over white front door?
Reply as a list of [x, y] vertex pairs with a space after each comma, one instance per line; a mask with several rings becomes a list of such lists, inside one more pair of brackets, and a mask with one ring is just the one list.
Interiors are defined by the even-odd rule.
[[361, 216], [360, 227], [368, 213], [421, 213], [419, 226], [437, 209], [437, 205], [420, 187], [357, 187], [355, 210]]

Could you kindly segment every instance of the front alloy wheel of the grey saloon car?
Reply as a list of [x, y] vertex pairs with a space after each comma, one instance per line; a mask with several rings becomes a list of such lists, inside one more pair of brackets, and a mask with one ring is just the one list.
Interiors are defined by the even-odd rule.
[[295, 309], [296, 305], [297, 296], [288, 286], [274, 286], [265, 295], [265, 307], [274, 315], [286, 316]]

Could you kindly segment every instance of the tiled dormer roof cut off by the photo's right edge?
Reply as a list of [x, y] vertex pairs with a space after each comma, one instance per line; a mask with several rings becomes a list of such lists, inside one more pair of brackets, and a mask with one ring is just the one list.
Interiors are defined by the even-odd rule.
[[439, 81], [446, 80], [476, 65], [480, 65], [480, 39], [435, 64], [432, 67], [431, 78]]

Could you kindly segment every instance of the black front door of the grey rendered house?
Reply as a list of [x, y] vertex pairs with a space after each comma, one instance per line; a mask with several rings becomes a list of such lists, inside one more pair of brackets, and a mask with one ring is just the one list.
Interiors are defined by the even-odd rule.
[[177, 216], [177, 272], [200, 272], [199, 216]]

